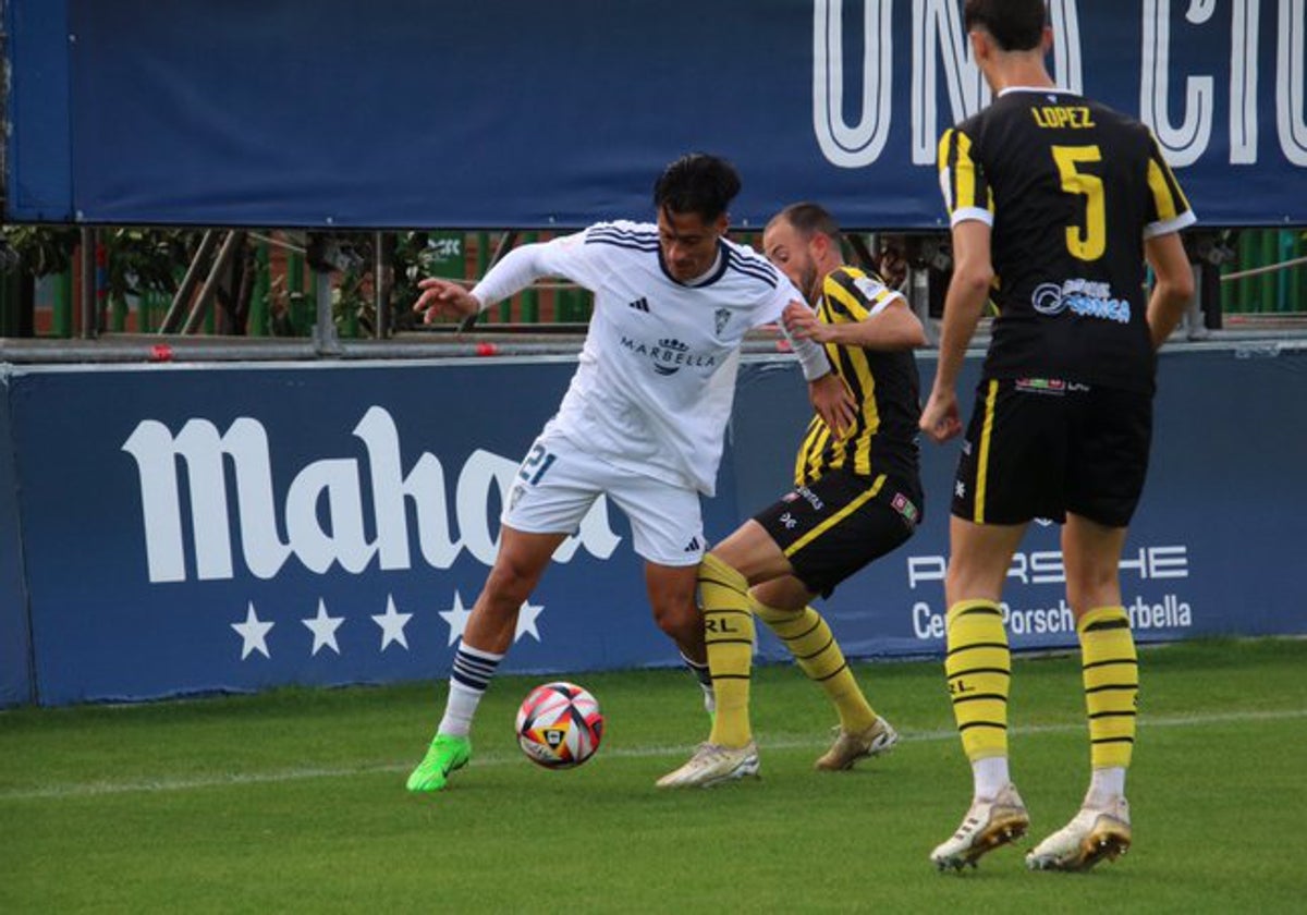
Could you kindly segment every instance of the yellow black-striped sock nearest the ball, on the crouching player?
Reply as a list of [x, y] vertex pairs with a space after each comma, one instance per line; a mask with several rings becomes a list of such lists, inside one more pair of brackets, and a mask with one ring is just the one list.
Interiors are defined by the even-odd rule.
[[708, 553], [699, 566], [699, 603], [718, 703], [708, 740], [723, 746], [744, 746], [753, 739], [749, 724], [749, 672], [753, 664], [749, 582]]

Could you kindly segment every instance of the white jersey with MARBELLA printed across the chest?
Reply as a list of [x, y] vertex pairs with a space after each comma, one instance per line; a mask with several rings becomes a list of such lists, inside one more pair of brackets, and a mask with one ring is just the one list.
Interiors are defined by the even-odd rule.
[[[617, 221], [516, 248], [472, 291], [489, 305], [541, 276], [595, 293], [580, 365], [549, 427], [612, 464], [712, 495], [740, 345], [750, 328], [779, 322], [788, 302], [802, 302], [799, 290], [727, 239], [704, 278], [677, 282], [657, 226]], [[805, 376], [829, 371], [821, 348], [799, 341], [796, 350]]]

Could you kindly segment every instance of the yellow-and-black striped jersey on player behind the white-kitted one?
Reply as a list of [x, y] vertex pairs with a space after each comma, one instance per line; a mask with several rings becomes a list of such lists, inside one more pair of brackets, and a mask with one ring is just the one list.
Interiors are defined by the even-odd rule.
[[[874, 273], [840, 267], [826, 276], [816, 307], [827, 324], [852, 323], [895, 297]], [[912, 352], [826, 344], [826, 357], [853, 392], [857, 420], [839, 438], [819, 416], [813, 417], [799, 447], [795, 484], [805, 486], [827, 469], [844, 468], [868, 477], [889, 473], [916, 485], [921, 407]]]

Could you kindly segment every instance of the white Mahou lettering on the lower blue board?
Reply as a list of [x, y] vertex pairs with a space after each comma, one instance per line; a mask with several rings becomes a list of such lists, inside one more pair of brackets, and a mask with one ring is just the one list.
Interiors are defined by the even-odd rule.
[[[429, 566], [450, 569], [464, 552], [493, 565], [498, 525], [489, 512], [507, 498], [519, 461], [473, 451], [459, 471], [451, 506], [446, 469], [435, 455], [423, 452], [405, 472], [399, 430], [386, 409], [370, 407], [353, 435], [363, 443], [366, 460], [314, 460], [278, 493], [273, 481], [285, 474], [274, 477], [268, 433], [257, 420], [239, 417], [220, 433], [213, 422], [192, 418], [175, 435], [157, 420], [137, 424], [122, 450], [139, 472], [149, 580], [188, 579], [187, 535], [199, 580], [235, 578], [233, 542], [240, 545], [246, 570], [260, 579], [274, 578], [291, 556], [315, 574], [335, 563], [359, 574], [374, 561], [382, 570], [406, 570], [413, 563], [410, 508]], [[580, 546], [604, 559], [620, 542], [609, 528], [606, 499], [600, 498], [554, 559], [569, 562]]]

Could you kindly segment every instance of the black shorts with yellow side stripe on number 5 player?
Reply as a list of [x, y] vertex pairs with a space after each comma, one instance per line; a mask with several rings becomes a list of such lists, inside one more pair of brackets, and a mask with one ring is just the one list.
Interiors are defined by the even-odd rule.
[[953, 514], [978, 524], [1129, 524], [1153, 442], [1153, 396], [1055, 378], [985, 379], [958, 458]]

